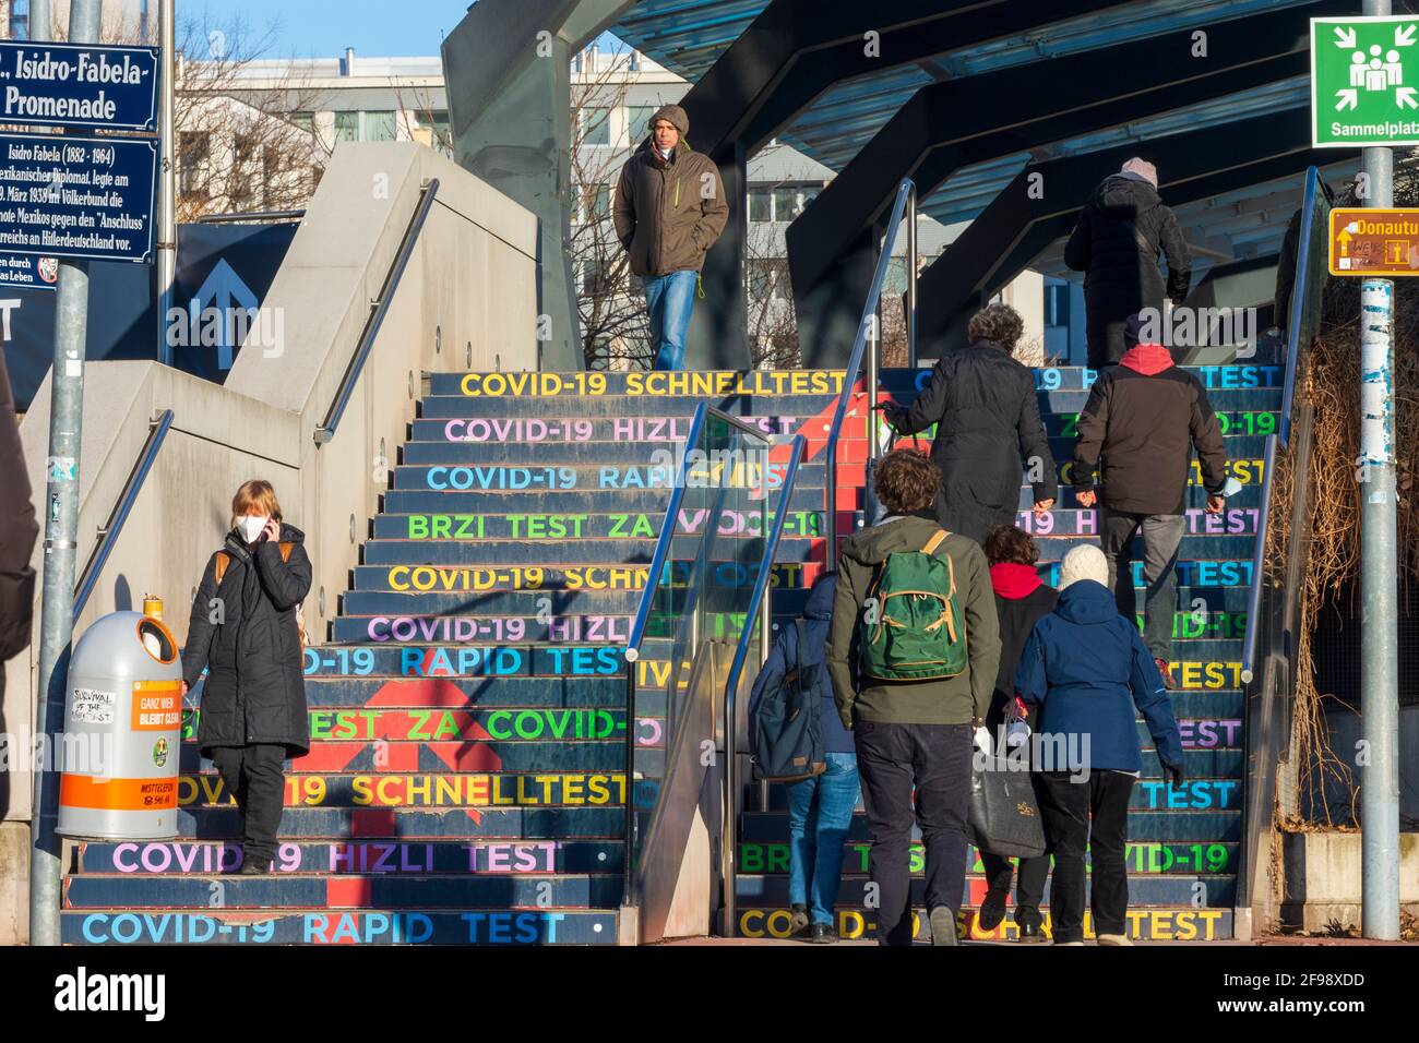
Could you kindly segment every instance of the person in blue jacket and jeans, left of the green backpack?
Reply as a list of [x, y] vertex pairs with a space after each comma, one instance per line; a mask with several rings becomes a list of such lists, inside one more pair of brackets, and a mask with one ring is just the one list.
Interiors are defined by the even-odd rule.
[[[769, 658], [749, 692], [749, 712], [755, 712], [763, 692], [779, 684], [789, 670], [823, 663], [827, 624], [833, 619], [836, 573], [827, 573], [809, 590], [803, 607], [805, 644], [799, 647], [797, 627], [779, 627]], [[827, 769], [810, 779], [789, 783], [789, 905], [792, 931], [809, 931], [809, 941], [834, 942], [833, 905], [843, 878], [843, 847], [847, 827], [857, 807], [857, 754], [851, 734], [843, 727], [833, 701], [827, 670], [820, 678], [819, 721]]]

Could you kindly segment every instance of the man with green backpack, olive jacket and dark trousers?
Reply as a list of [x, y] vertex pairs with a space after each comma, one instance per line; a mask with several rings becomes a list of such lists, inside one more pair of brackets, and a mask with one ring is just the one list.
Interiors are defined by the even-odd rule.
[[843, 545], [826, 646], [833, 697], [857, 748], [873, 834], [868, 908], [876, 897], [883, 945], [910, 945], [914, 935], [914, 822], [927, 850], [932, 944], [956, 944], [972, 736], [1000, 658], [985, 552], [937, 524], [939, 482], [914, 450], [877, 467], [873, 487], [887, 517]]

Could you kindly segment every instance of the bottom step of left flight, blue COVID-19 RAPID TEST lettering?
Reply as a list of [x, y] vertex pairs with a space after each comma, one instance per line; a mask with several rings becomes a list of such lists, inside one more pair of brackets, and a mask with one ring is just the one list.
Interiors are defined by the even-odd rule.
[[60, 914], [62, 945], [614, 945], [616, 914], [589, 910]]

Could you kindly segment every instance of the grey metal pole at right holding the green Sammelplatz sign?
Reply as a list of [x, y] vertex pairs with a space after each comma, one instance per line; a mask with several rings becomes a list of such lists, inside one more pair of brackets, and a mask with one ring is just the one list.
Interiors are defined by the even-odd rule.
[[[1365, 0], [1388, 16], [1389, 0]], [[1365, 148], [1366, 207], [1393, 206], [1393, 149]], [[1361, 929], [1399, 939], [1399, 565], [1395, 505], [1392, 280], [1366, 278], [1359, 297]]]

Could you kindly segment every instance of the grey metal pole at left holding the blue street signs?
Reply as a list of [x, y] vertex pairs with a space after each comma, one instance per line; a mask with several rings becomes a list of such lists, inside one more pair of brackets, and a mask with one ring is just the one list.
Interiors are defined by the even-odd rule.
[[[47, 9], [48, 4], [44, 4]], [[70, 40], [92, 43], [99, 34], [101, 0], [74, 0]], [[44, 11], [45, 18], [48, 11]], [[41, 23], [41, 31], [48, 21]], [[30, 820], [30, 944], [60, 944], [60, 843], [54, 833], [60, 807], [64, 690], [74, 634], [74, 553], [79, 522], [79, 438], [84, 426], [84, 351], [88, 336], [88, 264], [60, 263], [54, 318], [54, 368], [50, 370], [50, 453], [44, 490], [44, 589], [40, 614], [40, 684], [35, 735], [45, 755], [35, 763]]]

